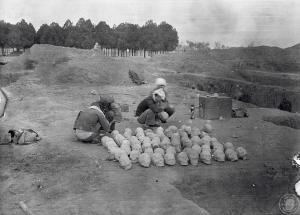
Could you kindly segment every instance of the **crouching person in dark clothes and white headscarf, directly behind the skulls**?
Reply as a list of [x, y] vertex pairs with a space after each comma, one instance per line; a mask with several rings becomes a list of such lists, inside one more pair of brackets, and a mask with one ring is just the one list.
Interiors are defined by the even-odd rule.
[[165, 93], [162, 89], [153, 91], [152, 95], [146, 97], [137, 107], [137, 121], [146, 127], [158, 127], [161, 122], [174, 113], [174, 109], [164, 103]]

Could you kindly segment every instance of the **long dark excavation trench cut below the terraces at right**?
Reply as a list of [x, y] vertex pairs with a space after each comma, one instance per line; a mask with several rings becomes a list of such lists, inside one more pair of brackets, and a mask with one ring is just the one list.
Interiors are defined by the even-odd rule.
[[197, 74], [167, 75], [168, 80], [181, 86], [210, 93], [224, 93], [234, 99], [260, 107], [277, 108], [283, 97], [292, 103], [292, 112], [300, 111], [300, 93], [282, 87], [259, 85], [227, 78], [204, 77]]

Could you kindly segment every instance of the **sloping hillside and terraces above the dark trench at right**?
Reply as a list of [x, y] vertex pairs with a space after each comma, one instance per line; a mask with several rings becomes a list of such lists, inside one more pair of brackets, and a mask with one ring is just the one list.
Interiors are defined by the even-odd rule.
[[260, 46], [211, 50], [209, 53], [178, 52], [155, 56], [153, 62], [179, 74], [198, 74], [202, 79], [231, 79], [299, 91], [300, 64], [296, 58], [290, 50]]

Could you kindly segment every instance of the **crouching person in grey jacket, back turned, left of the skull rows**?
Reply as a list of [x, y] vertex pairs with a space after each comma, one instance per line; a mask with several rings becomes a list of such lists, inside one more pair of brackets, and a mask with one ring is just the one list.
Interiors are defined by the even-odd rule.
[[90, 107], [78, 113], [73, 130], [82, 142], [97, 142], [100, 134], [110, 133], [116, 122], [121, 122], [122, 114], [111, 96], [100, 96]]

